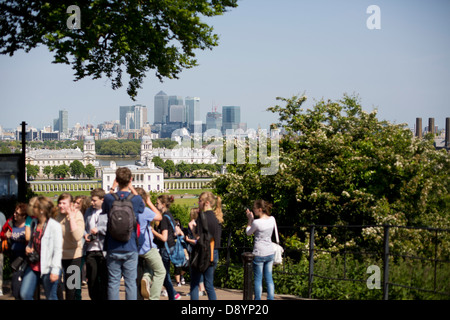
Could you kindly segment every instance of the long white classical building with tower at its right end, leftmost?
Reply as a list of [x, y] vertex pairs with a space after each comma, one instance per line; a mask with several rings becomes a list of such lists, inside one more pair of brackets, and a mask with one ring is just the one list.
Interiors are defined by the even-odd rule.
[[95, 177], [100, 177], [100, 164], [96, 160], [94, 137], [88, 136], [84, 140], [84, 151], [78, 147], [76, 149], [32, 149], [26, 152], [26, 164], [38, 165], [39, 176], [44, 177], [43, 169], [46, 166], [68, 165], [78, 160], [84, 166], [92, 164], [96, 168]]

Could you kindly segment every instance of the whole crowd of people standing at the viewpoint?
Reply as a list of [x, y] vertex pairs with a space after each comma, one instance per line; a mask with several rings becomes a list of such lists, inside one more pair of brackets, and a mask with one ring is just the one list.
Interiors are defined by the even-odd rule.
[[[113, 204], [120, 199], [131, 202], [136, 217], [135, 228], [125, 241], [111, 235], [108, 223]], [[8, 252], [13, 268], [13, 295], [17, 299], [32, 300], [38, 297], [36, 288], [42, 283], [48, 300], [62, 299], [63, 290], [66, 300], [81, 299], [81, 270], [85, 269], [91, 300], [119, 300], [122, 278], [127, 300], [158, 300], [163, 287], [170, 300], [178, 300], [181, 297], [170, 276], [172, 250], [177, 235], [183, 235], [189, 261], [189, 254], [200, 239], [201, 213], [211, 235], [211, 262], [202, 271], [189, 264], [175, 270], [178, 283], [182, 281], [183, 270], [189, 270], [192, 300], [199, 299], [205, 291], [208, 299], [215, 300], [214, 271], [223, 223], [221, 199], [211, 192], [203, 192], [199, 196], [199, 207], [191, 210], [191, 220], [184, 232], [170, 213], [173, 201], [172, 196], [160, 195], [155, 206], [145, 190], [132, 186], [131, 171], [121, 167], [116, 171], [111, 192], [98, 188], [91, 191], [91, 197], [75, 199], [63, 193], [56, 206], [45, 196], [34, 197], [29, 204], [18, 204], [0, 234], [3, 251]], [[248, 209], [246, 212], [246, 232], [256, 235], [253, 250], [255, 299], [261, 299], [263, 275], [267, 298], [274, 296], [271, 235], [275, 219], [270, 216], [270, 209], [270, 204], [258, 200], [253, 212]]]

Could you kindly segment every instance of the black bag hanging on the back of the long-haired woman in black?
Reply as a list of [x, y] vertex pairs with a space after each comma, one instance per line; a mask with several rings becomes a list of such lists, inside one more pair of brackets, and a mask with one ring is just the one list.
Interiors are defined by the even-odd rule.
[[211, 232], [208, 230], [208, 221], [204, 212], [199, 213], [197, 230], [200, 238], [194, 246], [190, 258], [191, 267], [203, 273], [213, 264], [214, 256], [211, 254]]

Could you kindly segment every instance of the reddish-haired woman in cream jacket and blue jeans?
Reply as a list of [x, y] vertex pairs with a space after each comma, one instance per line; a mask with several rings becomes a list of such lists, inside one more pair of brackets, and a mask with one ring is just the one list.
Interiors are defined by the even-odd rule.
[[34, 202], [33, 211], [37, 222], [31, 225], [31, 239], [25, 249], [28, 266], [20, 296], [23, 300], [33, 300], [39, 278], [42, 278], [46, 298], [57, 300], [63, 242], [61, 225], [53, 219], [56, 207], [51, 199], [39, 196]]

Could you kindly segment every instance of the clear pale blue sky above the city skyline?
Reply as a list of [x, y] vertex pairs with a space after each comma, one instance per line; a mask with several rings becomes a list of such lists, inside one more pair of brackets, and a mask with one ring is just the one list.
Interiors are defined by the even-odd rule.
[[[358, 95], [380, 120], [423, 127], [450, 117], [450, 1], [240, 0], [237, 8], [205, 20], [219, 35], [213, 50], [197, 51], [199, 66], [161, 83], [147, 73], [136, 101], [107, 78], [74, 82], [68, 65], [52, 64], [46, 47], [0, 56], [0, 126], [22, 121], [53, 125], [58, 110], [69, 127], [119, 119], [119, 106], [143, 104], [153, 122], [154, 96], [200, 97], [201, 120], [213, 107], [241, 107], [248, 128], [278, 121], [266, 111], [276, 97], [320, 99]], [[380, 9], [378, 20], [370, 5]], [[82, 14], [82, 13], [81, 13]], [[380, 29], [369, 29], [379, 22]], [[123, 79], [126, 80], [126, 79]]]

